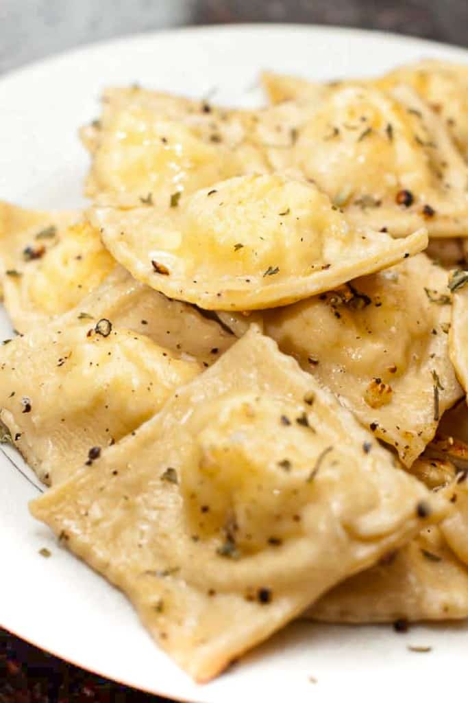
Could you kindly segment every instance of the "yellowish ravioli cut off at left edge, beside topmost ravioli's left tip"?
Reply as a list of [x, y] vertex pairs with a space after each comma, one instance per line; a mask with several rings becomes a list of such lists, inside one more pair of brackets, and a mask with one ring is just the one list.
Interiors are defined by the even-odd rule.
[[34, 212], [0, 205], [4, 304], [15, 328], [72, 309], [114, 269], [99, 233], [76, 212]]

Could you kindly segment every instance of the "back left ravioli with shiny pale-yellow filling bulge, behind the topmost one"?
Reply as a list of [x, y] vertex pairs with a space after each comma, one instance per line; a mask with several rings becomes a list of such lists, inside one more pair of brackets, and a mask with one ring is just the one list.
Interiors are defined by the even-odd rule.
[[103, 103], [81, 132], [93, 156], [86, 193], [101, 203], [166, 207], [178, 193], [268, 170], [247, 139], [253, 112], [135, 88], [108, 89]]

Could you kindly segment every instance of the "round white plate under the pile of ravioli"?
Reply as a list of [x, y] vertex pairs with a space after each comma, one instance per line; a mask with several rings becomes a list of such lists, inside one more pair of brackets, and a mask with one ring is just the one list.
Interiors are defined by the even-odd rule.
[[[98, 115], [108, 84], [138, 81], [255, 105], [262, 68], [327, 79], [427, 56], [468, 62], [468, 51], [432, 42], [293, 25], [161, 32], [73, 51], [0, 80], [0, 198], [41, 208], [83, 205], [88, 160], [76, 130]], [[0, 338], [10, 333], [1, 311]], [[339, 696], [367, 703], [396, 695], [428, 702], [464, 690], [464, 624], [397, 635], [390, 626], [297, 623], [213, 683], [195, 685], [152, 643], [123, 595], [29, 517], [39, 484], [18, 455], [8, 456], [0, 454], [0, 624], [39, 647], [116, 681], [196, 703], [324, 703]], [[44, 546], [51, 559], [38, 554]], [[433, 650], [415, 654], [407, 645]]]

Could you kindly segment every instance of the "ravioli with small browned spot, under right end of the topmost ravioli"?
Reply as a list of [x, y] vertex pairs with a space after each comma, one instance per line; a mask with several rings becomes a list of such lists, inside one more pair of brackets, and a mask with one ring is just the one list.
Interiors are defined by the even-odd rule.
[[[463, 392], [448, 356], [448, 273], [424, 254], [345, 287], [255, 314], [410, 466]], [[250, 318], [222, 315], [237, 335]]]

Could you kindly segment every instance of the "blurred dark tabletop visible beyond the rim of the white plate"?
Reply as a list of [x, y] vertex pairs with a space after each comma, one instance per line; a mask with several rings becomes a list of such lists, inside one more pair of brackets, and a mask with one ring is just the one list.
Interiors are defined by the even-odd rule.
[[[0, 74], [100, 39], [222, 22], [346, 25], [468, 44], [467, 0], [0, 0]], [[0, 703], [68, 701], [161, 699], [108, 683], [0, 630]]]

